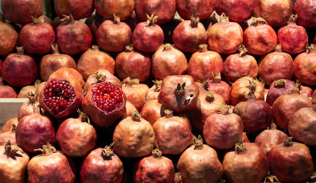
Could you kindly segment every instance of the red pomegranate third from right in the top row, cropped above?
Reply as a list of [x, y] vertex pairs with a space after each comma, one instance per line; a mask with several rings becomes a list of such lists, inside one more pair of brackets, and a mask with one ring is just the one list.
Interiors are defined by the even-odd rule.
[[251, 18], [254, 10], [254, 0], [217, 0], [216, 12], [225, 13], [231, 21], [244, 22]]

